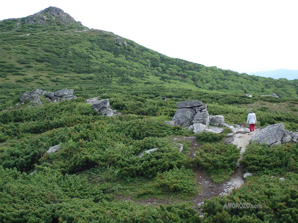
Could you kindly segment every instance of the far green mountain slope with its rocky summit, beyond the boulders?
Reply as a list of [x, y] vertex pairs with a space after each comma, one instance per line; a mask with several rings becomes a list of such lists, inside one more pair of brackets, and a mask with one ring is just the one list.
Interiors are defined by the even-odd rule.
[[140, 89], [149, 88], [149, 95], [156, 96], [172, 89], [203, 89], [298, 97], [296, 80], [249, 76], [169, 58], [113, 33], [88, 29], [54, 7], [1, 21], [0, 37], [1, 104], [37, 87], [74, 88], [78, 95], [127, 89], [144, 94]]

